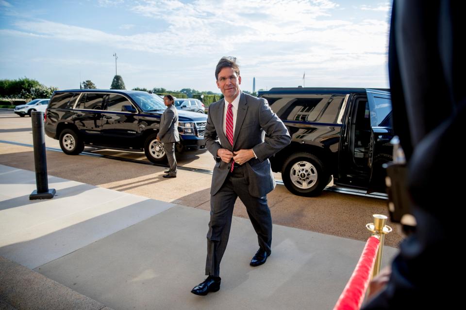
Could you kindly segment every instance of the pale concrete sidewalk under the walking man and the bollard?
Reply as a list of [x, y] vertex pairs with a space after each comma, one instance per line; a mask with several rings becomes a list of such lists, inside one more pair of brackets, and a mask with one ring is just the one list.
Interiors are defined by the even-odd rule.
[[0, 165], [0, 309], [329, 309], [364, 247], [274, 225], [272, 255], [253, 268], [257, 237], [233, 217], [221, 289], [200, 297], [208, 211], [52, 176], [49, 187], [56, 197], [29, 201], [34, 173]]

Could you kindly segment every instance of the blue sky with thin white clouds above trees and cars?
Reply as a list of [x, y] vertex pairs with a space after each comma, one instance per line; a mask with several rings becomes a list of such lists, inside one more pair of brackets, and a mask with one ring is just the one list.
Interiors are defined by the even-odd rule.
[[218, 92], [215, 66], [235, 56], [241, 88], [388, 87], [390, 1], [0, 0], [0, 79], [59, 89]]

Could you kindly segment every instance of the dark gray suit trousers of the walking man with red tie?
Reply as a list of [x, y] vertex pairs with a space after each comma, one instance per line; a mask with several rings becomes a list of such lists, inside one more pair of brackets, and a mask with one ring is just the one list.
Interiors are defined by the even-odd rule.
[[248, 183], [244, 177], [245, 167], [234, 168], [225, 180], [223, 186], [211, 196], [210, 222], [207, 233], [207, 259], [205, 274], [218, 277], [220, 261], [227, 248], [232, 225], [233, 207], [239, 197], [246, 206], [248, 216], [257, 233], [259, 247], [271, 252], [272, 245], [272, 217], [267, 205], [267, 197], [252, 197], [248, 190]]

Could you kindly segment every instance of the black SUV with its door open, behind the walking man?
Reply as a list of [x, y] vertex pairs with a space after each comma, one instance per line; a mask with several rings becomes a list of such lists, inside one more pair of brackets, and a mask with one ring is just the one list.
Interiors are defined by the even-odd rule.
[[300, 196], [339, 186], [384, 192], [392, 160], [392, 105], [385, 89], [272, 88], [260, 91], [288, 128], [291, 144], [270, 158], [272, 170]]

